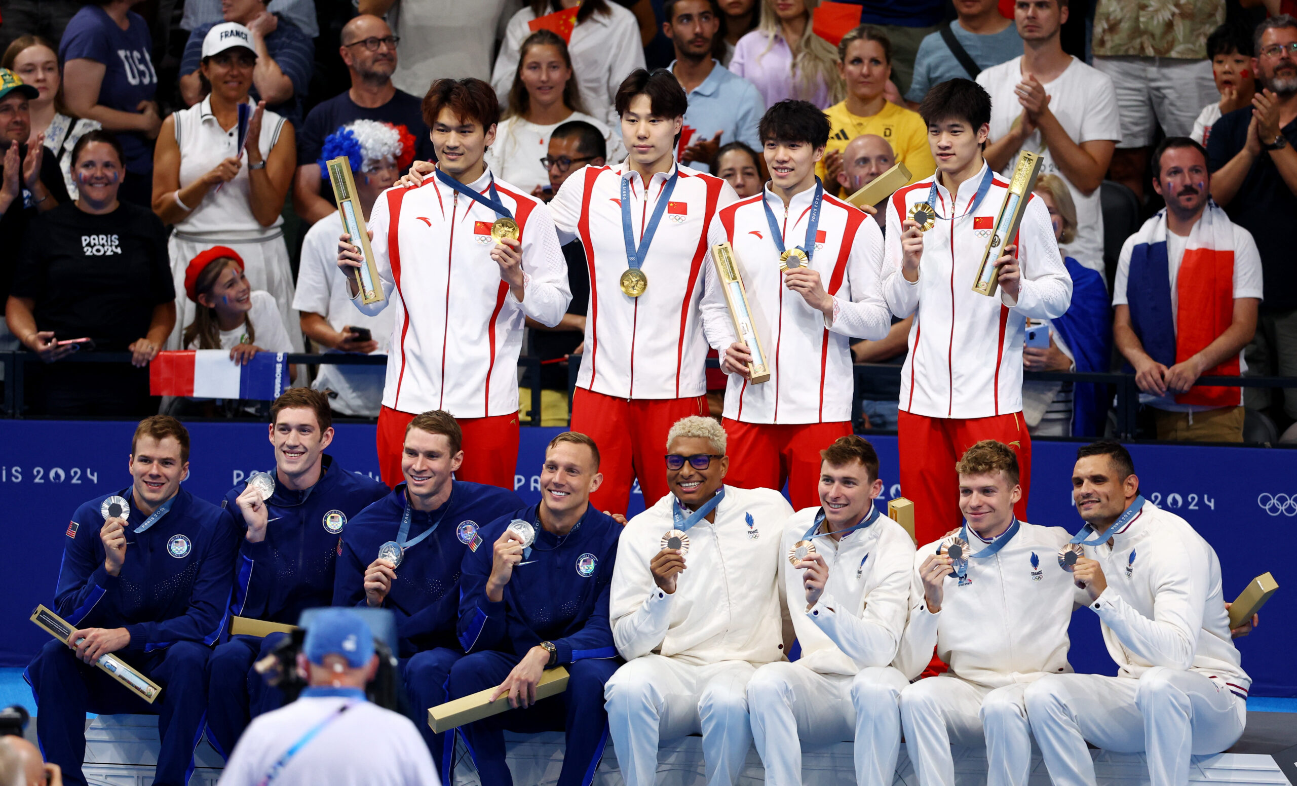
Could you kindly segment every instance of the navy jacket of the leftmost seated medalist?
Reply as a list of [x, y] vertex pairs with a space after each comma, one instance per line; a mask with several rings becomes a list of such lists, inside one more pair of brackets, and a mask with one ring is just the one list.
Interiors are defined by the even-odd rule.
[[214, 643], [226, 626], [233, 584], [235, 546], [230, 514], [183, 488], [171, 510], [144, 532], [131, 489], [126, 559], [117, 576], [104, 569], [100, 506], [110, 494], [77, 508], [67, 525], [54, 611], [77, 628], [126, 628], [125, 652], [149, 652], [178, 641]]

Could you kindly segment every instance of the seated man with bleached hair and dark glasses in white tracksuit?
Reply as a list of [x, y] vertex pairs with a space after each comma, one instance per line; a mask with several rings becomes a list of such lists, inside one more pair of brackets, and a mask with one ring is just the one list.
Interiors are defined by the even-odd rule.
[[658, 743], [703, 735], [708, 786], [732, 786], [752, 743], [747, 682], [783, 659], [779, 534], [770, 489], [722, 485], [725, 429], [689, 416], [667, 436], [671, 494], [626, 524], [612, 571], [612, 638], [626, 664], [604, 687], [626, 786], [652, 786]]

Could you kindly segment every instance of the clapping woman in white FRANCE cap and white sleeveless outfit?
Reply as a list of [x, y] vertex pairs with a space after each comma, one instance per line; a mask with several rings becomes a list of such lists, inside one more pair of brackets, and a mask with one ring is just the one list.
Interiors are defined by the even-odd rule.
[[[200, 66], [210, 93], [162, 123], [153, 170], [153, 211], [175, 224], [167, 243], [176, 292], [189, 259], [213, 245], [235, 249], [253, 289], [275, 297], [285, 326], [297, 326], [293, 274], [280, 211], [293, 180], [293, 126], [259, 101], [252, 109], [240, 149], [239, 105], [252, 101], [256, 36], [237, 22], [222, 22], [202, 42]], [[176, 324], [188, 324], [193, 304], [176, 298]], [[293, 351], [301, 331], [291, 329]], [[169, 349], [180, 349], [180, 332]]]

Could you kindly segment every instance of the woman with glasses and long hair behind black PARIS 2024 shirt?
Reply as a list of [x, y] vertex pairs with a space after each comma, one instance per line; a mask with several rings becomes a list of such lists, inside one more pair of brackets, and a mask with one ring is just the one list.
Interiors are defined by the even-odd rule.
[[14, 39], [4, 51], [0, 66], [17, 74], [23, 84], [35, 87], [40, 93], [27, 102], [31, 109], [31, 135], [27, 141], [32, 143], [38, 135], [45, 135], [45, 147], [58, 158], [58, 169], [64, 171], [64, 187], [67, 188], [67, 196], [75, 200], [73, 148], [87, 131], [101, 127], [99, 121], [73, 117], [71, 110], [64, 102], [58, 52], [53, 44], [39, 35], [25, 35]]

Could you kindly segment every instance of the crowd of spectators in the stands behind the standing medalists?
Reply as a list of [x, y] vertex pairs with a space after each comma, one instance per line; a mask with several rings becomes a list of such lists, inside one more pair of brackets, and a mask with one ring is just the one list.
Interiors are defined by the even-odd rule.
[[[350, 156], [368, 210], [412, 161], [434, 157], [420, 109], [431, 82], [477, 77], [503, 108], [492, 171], [550, 200], [580, 167], [626, 156], [612, 97], [647, 65], [669, 69], [689, 97], [678, 161], [741, 197], [765, 180], [757, 121], [773, 104], [825, 112], [817, 175], [846, 197], [898, 162], [912, 182], [930, 176], [914, 109], [942, 82], [975, 79], [992, 99], [991, 169], [1010, 174], [1023, 150], [1044, 158], [1036, 195], [1077, 292], [1065, 318], [1029, 326], [1039, 344], [1026, 368], [1132, 371], [1149, 437], [1233, 441], [1254, 420], [1275, 436], [1297, 422], [1297, 389], [1222, 388], [1189, 403], [1204, 374], [1297, 375], [1297, 274], [1284, 248], [1297, 210], [1292, 17], [1236, 0], [1169, 0], [1169, 13], [1119, 0], [861, 0], [846, 27], [817, 0], [359, 0], [345, 18], [324, 5], [0, 0], [0, 349], [44, 361], [29, 375], [34, 412], [157, 411], [145, 367], [161, 349], [387, 351], [392, 326], [350, 307], [335, 280], [341, 223], [323, 162]], [[1069, 21], [1087, 43], [1062, 35]], [[342, 92], [322, 86], [344, 73]], [[1139, 214], [1114, 235], [1105, 211], [1122, 189]], [[1237, 231], [1213, 233], [1213, 217]], [[1160, 243], [1170, 300], [1154, 327], [1128, 287], [1144, 280], [1141, 249], [1161, 254]], [[551, 424], [567, 420], [567, 358], [582, 349], [589, 291], [580, 244], [564, 254], [568, 314], [553, 328], [529, 322]], [[1230, 258], [1227, 272], [1202, 262], [1211, 254]], [[1215, 274], [1227, 283], [1205, 284]], [[857, 341], [856, 362], [901, 363], [910, 323]], [[91, 345], [128, 350], [135, 366], [95, 368], [89, 384], [83, 364], [58, 363]], [[376, 414], [381, 370], [300, 371], [340, 414]], [[895, 383], [863, 388], [857, 425], [895, 428]], [[1105, 387], [1027, 383], [1025, 393], [1038, 435], [1110, 427]]]

